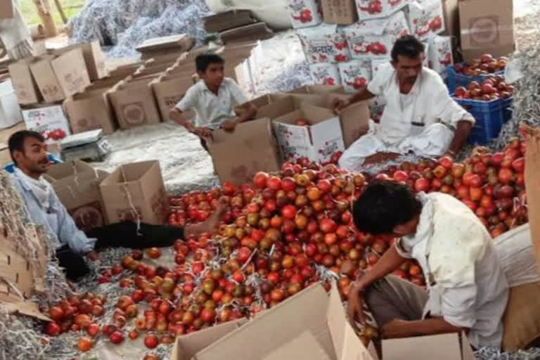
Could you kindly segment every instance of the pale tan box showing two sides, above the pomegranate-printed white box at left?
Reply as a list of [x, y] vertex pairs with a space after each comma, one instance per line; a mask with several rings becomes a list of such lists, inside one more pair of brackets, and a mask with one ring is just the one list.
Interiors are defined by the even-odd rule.
[[64, 101], [90, 85], [82, 49], [72, 49], [58, 57], [43, 56], [30, 65], [30, 71], [49, 103]]

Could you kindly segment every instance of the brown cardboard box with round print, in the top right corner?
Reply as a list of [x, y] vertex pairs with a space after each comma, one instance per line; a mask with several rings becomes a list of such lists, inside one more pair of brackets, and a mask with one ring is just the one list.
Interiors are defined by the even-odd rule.
[[465, 60], [483, 53], [507, 56], [515, 49], [512, 0], [459, 1], [461, 49]]

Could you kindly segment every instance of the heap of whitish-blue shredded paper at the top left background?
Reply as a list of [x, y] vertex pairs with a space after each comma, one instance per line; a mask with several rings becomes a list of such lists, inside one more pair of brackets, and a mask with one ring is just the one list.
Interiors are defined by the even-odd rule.
[[201, 21], [210, 15], [203, 0], [88, 0], [68, 26], [73, 42], [98, 39], [115, 58], [137, 56], [146, 39], [188, 34], [200, 44], [207, 33]]

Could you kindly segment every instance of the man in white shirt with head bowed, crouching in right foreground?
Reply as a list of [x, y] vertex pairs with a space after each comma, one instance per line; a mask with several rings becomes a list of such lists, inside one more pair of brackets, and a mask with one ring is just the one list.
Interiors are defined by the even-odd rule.
[[[386, 181], [368, 186], [353, 217], [359, 231], [399, 241], [352, 285], [350, 319], [363, 320], [365, 300], [386, 338], [464, 331], [473, 347], [501, 347], [508, 283], [491, 236], [468, 207]], [[387, 276], [406, 259], [420, 264], [427, 291]]]

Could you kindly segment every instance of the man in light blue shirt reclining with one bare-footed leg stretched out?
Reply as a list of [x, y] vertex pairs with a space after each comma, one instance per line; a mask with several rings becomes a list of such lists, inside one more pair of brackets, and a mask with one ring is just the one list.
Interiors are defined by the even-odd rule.
[[84, 233], [77, 229], [51, 184], [41, 176], [51, 164], [44, 137], [35, 131], [18, 131], [11, 136], [8, 146], [15, 163], [15, 171], [11, 175], [15, 188], [25, 201], [30, 219], [45, 227], [56, 248], [60, 266], [65, 268], [66, 276], [73, 281], [89, 273], [84, 257], [95, 261], [98, 259], [96, 250], [171, 246], [177, 239], [212, 233], [226, 210], [226, 205], [219, 203], [207, 221], [187, 225], [184, 229], [140, 224], [137, 231], [133, 221], [123, 221]]

